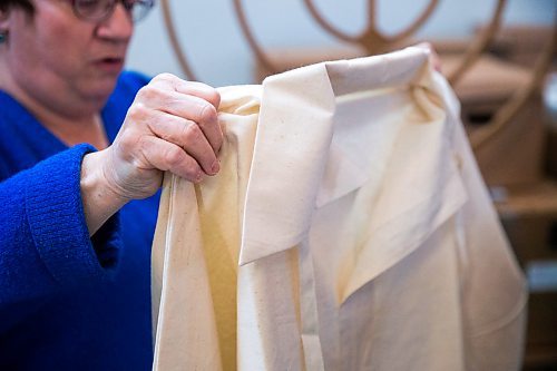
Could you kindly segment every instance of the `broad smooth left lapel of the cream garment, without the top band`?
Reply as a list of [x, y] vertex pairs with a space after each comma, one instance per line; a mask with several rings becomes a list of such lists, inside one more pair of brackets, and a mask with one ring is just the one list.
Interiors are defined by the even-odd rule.
[[[304, 88], [293, 90], [292, 85]], [[255, 138], [240, 265], [291, 248], [307, 233], [312, 208], [306, 205], [315, 203], [332, 138], [333, 114], [334, 95], [323, 65], [263, 81], [260, 124], [266, 124], [258, 125]], [[283, 188], [285, 179], [287, 192]], [[270, 217], [273, 228], [264, 228]]]

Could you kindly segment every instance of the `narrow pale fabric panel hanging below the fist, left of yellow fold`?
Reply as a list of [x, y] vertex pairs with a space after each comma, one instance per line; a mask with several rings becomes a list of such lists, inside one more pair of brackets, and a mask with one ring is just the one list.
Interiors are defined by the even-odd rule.
[[[179, 197], [162, 196], [160, 215], [167, 215], [167, 231], [156, 228], [155, 241], [167, 248], [163, 254], [153, 251], [153, 271], [164, 266], [163, 277], [154, 279], [153, 287], [162, 283], [160, 299], [164, 310], [158, 312], [154, 369], [157, 370], [221, 370], [217, 331], [213, 314], [213, 301], [208, 287], [208, 275], [203, 256], [199, 217], [195, 205], [195, 189], [190, 184], [165, 177], [165, 189], [169, 195], [179, 192]], [[169, 198], [177, 202], [169, 203]], [[193, 215], [192, 215], [193, 214]], [[174, 223], [188, 231], [176, 233]], [[164, 263], [157, 263], [162, 256]], [[157, 287], [158, 289], [158, 287]], [[158, 296], [156, 290], [153, 297]], [[172, 297], [167, 299], [168, 296]], [[157, 299], [154, 300], [154, 303]], [[193, 360], [192, 360], [193, 359]]]

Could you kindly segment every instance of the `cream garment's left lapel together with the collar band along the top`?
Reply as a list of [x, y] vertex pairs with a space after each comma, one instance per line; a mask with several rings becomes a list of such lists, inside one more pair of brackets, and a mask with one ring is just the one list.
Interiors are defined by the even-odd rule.
[[[350, 146], [331, 145], [336, 99], [371, 89], [422, 84], [419, 79], [427, 67], [428, 53], [408, 48], [375, 58], [317, 64], [263, 81], [262, 125], [250, 175], [257, 183], [248, 184], [250, 213], [244, 216], [241, 265], [297, 244], [309, 231], [313, 209], [307, 204], [322, 206], [368, 179], [365, 165], [358, 164], [372, 157], [350, 158], [345, 155]], [[273, 166], [267, 166], [268, 158], [273, 158]], [[323, 174], [328, 174], [325, 179]], [[275, 179], [286, 178], [292, 182], [284, 192]], [[268, 218], [273, 228], [262, 228]], [[261, 235], [258, 231], [263, 230]]]

